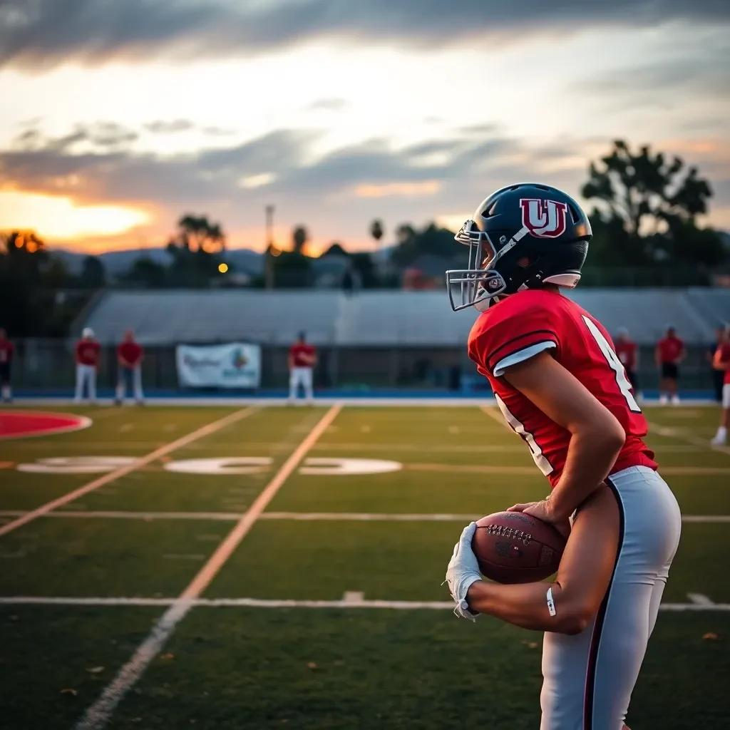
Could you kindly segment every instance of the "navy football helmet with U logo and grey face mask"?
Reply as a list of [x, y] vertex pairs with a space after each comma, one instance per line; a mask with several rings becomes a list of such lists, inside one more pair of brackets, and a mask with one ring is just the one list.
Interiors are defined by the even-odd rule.
[[591, 236], [588, 216], [557, 188], [520, 183], [492, 193], [454, 237], [469, 246], [469, 264], [446, 272], [452, 309], [484, 311], [500, 296], [544, 284], [575, 287]]

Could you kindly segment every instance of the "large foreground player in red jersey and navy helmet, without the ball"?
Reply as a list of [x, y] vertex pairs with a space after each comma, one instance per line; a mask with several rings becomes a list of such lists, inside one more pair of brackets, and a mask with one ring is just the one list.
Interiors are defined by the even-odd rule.
[[681, 527], [610, 335], [558, 290], [580, 280], [590, 239], [588, 218], [565, 193], [512, 185], [457, 234], [469, 268], [447, 272], [452, 307], [483, 312], [469, 357], [552, 486], [542, 502], [511, 510], [569, 534], [554, 581], [482, 580], [476, 523], [446, 573], [458, 616], [546, 632], [542, 730], [624, 727]]

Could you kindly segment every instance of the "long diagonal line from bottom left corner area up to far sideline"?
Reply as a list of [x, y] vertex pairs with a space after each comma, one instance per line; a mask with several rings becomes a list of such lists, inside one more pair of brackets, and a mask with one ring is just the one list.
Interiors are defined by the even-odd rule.
[[239, 518], [236, 526], [232, 529], [223, 542], [218, 545], [215, 552], [210, 556], [206, 564], [199, 570], [190, 585], [174, 599], [168, 610], [155, 623], [149, 636], [139, 645], [131, 659], [120, 669], [118, 675], [104, 688], [99, 699], [86, 710], [81, 720], [74, 726], [75, 730], [100, 730], [106, 726], [107, 721], [123, 696], [137, 683], [139, 677], [147, 669], [155, 656], [158, 655], [167, 639], [172, 636], [175, 627], [185, 618], [185, 615], [193, 607], [193, 601], [199, 599], [200, 594], [210, 585], [210, 582], [218, 575], [231, 554], [246, 537], [248, 531], [253, 527], [255, 521], [264, 512], [266, 505], [272, 501], [274, 495], [280, 490], [283, 483], [299, 465], [317, 439], [326, 431], [342, 406], [332, 406], [320, 418], [317, 425], [307, 434], [304, 441], [296, 447], [291, 456], [282, 464], [274, 478], [269, 482], [249, 510]]

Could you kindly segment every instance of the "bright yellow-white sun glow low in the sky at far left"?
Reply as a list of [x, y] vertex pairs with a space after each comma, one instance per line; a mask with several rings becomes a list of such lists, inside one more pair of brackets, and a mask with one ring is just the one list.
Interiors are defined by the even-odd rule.
[[116, 236], [147, 223], [147, 212], [123, 205], [85, 205], [69, 196], [0, 191], [0, 228], [34, 230], [42, 238]]

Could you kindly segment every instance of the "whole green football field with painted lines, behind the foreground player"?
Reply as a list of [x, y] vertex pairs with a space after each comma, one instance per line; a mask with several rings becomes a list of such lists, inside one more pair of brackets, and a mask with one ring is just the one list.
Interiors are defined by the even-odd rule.
[[[496, 410], [57, 410], [93, 423], [0, 441], [1, 728], [539, 725], [539, 634], [440, 585], [548, 491]], [[685, 523], [629, 723], [726, 728], [730, 449], [714, 408], [648, 418]]]

